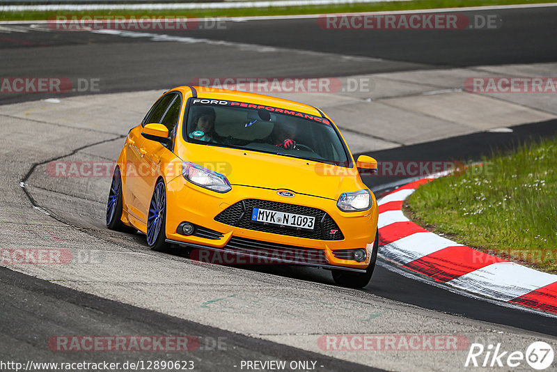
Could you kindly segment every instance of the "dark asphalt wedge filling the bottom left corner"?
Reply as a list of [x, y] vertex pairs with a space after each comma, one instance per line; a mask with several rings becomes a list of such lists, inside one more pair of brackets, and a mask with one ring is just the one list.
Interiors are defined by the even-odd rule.
[[[223, 366], [232, 369], [241, 359], [313, 360], [317, 361], [317, 366], [322, 366], [320, 371], [382, 371], [106, 300], [6, 268], [0, 268], [0, 288], [0, 309], [4, 317], [12, 320], [9, 324], [0, 324], [4, 361], [21, 360], [23, 355], [49, 362], [137, 360], [136, 352], [109, 353], [102, 357], [95, 352], [56, 355], [45, 349], [48, 335], [56, 329], [59, 334], [193, 335], [198, 338], [198, 344], [186, 358], [183, 352], [164, 351], [152, 352], [148, 359], [187, 359], [201, 371], [218, 371]], [[40, 319], [40, 323], [36, 319]]]

